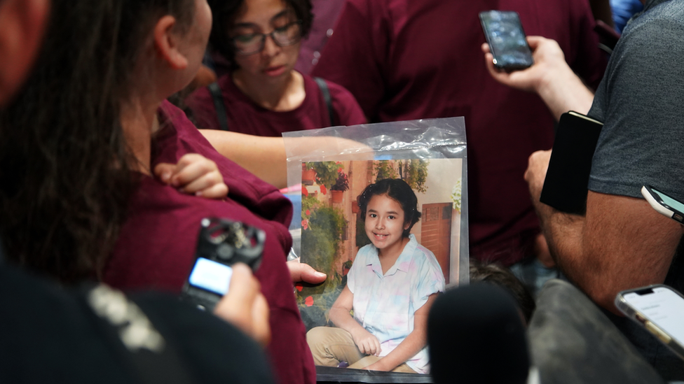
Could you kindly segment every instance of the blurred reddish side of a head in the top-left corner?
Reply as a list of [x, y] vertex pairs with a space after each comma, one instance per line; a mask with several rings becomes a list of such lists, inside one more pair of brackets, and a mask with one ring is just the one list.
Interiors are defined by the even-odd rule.
[[50, 0], [0, 0], [0, 104], [32, 68], [49, 10]]

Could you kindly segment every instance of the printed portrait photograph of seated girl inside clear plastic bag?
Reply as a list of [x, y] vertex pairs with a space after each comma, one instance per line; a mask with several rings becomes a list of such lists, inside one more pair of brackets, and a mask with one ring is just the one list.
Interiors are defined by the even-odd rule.
[[458, 283], [463, 159], [302, 164], [296, 294], [315, 363], [429, 373], [427, 311]]

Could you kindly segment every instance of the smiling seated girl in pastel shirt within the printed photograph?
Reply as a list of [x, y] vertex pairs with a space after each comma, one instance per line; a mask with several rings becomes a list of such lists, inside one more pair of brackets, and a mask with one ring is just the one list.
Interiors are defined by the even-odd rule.
[[425, 374], [427, 313], [444, 291], [444, 275], [435, 255], [410, 234], [420, 220], [418, 199], [404, 180], [385, 179], [357, 201], [371, 244], [357, 253], [330, 309], [336, 327], [306, 334], [315, 363]]

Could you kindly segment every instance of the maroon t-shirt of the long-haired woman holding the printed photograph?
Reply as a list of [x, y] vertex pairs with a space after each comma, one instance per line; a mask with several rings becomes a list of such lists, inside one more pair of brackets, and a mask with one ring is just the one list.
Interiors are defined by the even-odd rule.
[[285, 264], [292, 246], [287, 231], [292, 204], [275, 187], [219, 155], [175, 106], [165, 101], [159, 117], [162, 128], [153, 140], [152, 165], [175, 164], [186, 153], [199, 153], [217, 163], [230, 191], [223, 200], [205, 199], [141, 176], [104, 282], [123, 290], [177, 294], [194, 261], [200, 220], [216, 216], [264, 229], [266, 247], [255, 276], [271, 310], [268, 353], [280, 383], [315, 383], [306, 329]]

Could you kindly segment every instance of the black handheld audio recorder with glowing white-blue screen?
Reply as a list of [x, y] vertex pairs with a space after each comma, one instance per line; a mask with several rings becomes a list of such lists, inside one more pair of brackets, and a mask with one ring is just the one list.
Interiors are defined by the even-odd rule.
[[266, 232], [241, 222], [205, 218], [200, 224], [195, 263], [183, 285], [181, 299], [213, 311], [228, 293], [232, 265], [243, 262], [256, 272], [264, 253]]

